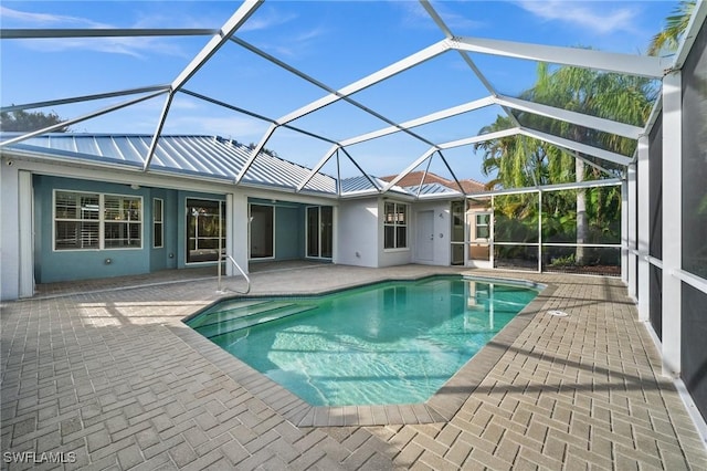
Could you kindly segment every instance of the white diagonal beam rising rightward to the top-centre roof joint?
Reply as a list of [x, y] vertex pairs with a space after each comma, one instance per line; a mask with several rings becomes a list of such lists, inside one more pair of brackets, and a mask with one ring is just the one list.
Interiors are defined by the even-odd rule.
[[360, 92], [363, 88], [368, 88], [371, 85], [374, 85], [379, 82], [384, 81], [386, 78], [390, 78], [393, 75], [397, 75], [403, 71], [407, 71], [410, 67], [413, 67], [418, 64], [421, 64], [424, 61], [428, 61], [432, 57], [435, 57], [446, 51], [450, 50], [449, 40], [442, 40], [437, 43], [432, 44], [429, 48], [423, 49], [414, 54], [407, 56], [405, 59], [395, 62], [387, 67], [383, 67], [372, 74], [356, 81], [344, 88], [338, 90], [335, 93], [330, 93], [315, 102], [312, 102], [294, 112], [282, 116], [277, 119], [277, 124], [286, 124], [303, 116], [308, 115], [309, 113], [316, 112], [331, 103], [335, 103], [341, 100], [344, 96], [351, 95], [354, 93]]

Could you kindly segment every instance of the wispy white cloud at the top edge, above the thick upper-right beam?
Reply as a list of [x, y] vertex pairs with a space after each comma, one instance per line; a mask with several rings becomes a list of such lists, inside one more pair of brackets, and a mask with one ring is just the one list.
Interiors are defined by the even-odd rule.
[[[566, 0], [520, 0], [517, 4], [544, 20], [576, 24], [601, 34], [636, 30], [635, 18], [639, 11], [635, 8], [611, 8], [600, 11], [588, 7], [587, 3]], [[594, 2], [594, 6], [612, 7], [612, 3]]]

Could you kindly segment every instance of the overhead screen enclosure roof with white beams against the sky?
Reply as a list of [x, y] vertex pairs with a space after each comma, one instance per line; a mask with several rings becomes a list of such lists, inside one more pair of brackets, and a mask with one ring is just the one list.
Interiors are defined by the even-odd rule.
[[[484, 181], [479, 143], [516, 135], [615, 177], [672, 65], [644, 51], [675, 6], [7, 1], [2, 111], [151, 135], [146, 171], [162, 134], [251, 145], [234, 184], [261, 151], [312, 177], [426, 170]], [[592, 100], [600, 86], [622, 102]]]

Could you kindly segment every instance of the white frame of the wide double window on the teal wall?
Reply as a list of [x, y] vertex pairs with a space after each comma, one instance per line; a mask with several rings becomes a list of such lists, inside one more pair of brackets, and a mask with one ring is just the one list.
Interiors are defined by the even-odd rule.
[[[71, 218], [57, 218], [56, 217], [56, 195], [60, 192], [72, 193], [72, 195], [92, 195], [98, 197], [98, 218], [97, 219], [71, 219]], [[117, 197], [117, 198], [126, 198], [134, 199], [139, 201], [139, 218], [137, 220], [128, 219], [128, 228], [129, 224], [139, 226], [139, 234], [140, 234], [140, 244], [134, 247], [108, 247], [106, 248], [106, 223], [109, 223], [110, 220], [106, 218], [106, 197]], [[78, 211], [78, 210], [77, 210]], [[104, 250], [143, 250], [145, 244], [145, 233], [144, 233], [144, 213], [145, 206], [141, 196], [135, 195], [119, 195], [119, 193], [101, 193], [96, 191], [77, 191], [77, 190], [68, 190], [68, 189], [54, 189], [52, 193], [52, 251], [53, 252], [85, 252], [85, 251], [104, 251]], [[73, 249], [57, 249], [56, 248], [56, 222], [60, 221], [95, 221], [98, 224], [98, 247], [87, 247], [87, 248], [73, 248]]]

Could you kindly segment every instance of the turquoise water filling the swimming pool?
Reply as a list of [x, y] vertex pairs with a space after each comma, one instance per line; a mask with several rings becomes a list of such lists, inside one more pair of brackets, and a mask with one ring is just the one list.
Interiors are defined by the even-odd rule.
[[458, 276], [240, 299], [187, 324], [314, 406], [422, 402], [537, 290]]

